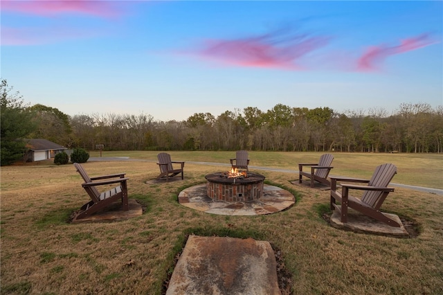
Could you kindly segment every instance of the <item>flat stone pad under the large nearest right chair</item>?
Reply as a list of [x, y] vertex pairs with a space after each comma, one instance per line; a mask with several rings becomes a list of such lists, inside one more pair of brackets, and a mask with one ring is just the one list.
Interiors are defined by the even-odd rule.
[[386, 235], [395, 238], [408, 238], [409, 233], [401, 224], [400, 218], [395, 214], [383, 213], [384, 215], [392, 218], [396, 222], [401, 224], [400, 227], [389, 226], [386, 223], [374, 220], [374, 218], [363, 215], [359, 212], [352, 210], [351, 208], [347, 212], [347, 222], [341, 222], [340, 213], [336, 210], [333, 211], [330, 224], [336, 229], [345, 229], [348, 231], [354, 231], [356, 233], [370, 233], [374, 235]]

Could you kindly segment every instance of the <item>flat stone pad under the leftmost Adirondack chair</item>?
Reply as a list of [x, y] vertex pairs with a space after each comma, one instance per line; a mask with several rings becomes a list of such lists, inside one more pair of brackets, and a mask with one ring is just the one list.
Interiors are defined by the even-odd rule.
[[129, 199], [127, 202], [129, 207], [128, 211], [122, 210], [122, 204], [120, 202], [115, 202], [103, 208], [101, 211], [93, 213], [87, 217], [80, 220], [73, 219], [73, 223], [81, 222], [111, 222], [116, 220], [126, 220], [132, 217], [141, 216], [143, 214], [143, 208], [140, 203], [135, 199]]

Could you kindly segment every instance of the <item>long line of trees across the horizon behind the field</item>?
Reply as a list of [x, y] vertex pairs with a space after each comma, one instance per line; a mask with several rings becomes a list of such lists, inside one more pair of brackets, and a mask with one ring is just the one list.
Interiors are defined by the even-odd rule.
[[402, 103], [392, 114], [381, 108], [338, 113], [277, 104], [266, 111], [246, 107], [165, 122], [143, 113], [68, 116], [26, 105], [6, 80], [0, 87], [2, 160], [20, 138], [87, 150], [104, 145], [105, 150], [443, 151], [443, 106], [433, 109], [424, 102]]

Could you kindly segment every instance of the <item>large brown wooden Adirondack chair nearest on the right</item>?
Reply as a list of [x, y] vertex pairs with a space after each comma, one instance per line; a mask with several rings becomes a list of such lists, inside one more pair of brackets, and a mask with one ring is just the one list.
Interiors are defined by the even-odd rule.
[[[347, 222], [347, 208], [349, 207], [390, 226], [400, 227], [401, 224], [391, 220], [379, 211], [388, 193], [394, 191], [394, 188], [388, 188], [388, 184], [396, 173], [397, 167], [393, 164], [386, 163], [375, 169], [370, 180], [338, 176], [330, 177], [331, 209], [338, 210], [341, 213], [341, 222], [343, 223]], [[340, 193], [336, 190], [337, 181], [367, 183], [368, 186], [341, 183], [342, 191]], [[364, 190], [361, 198], [352, 197], [349, 193], [351, 189]], [[341, 205], [338, 206], [336, 201], [341, 202]]]

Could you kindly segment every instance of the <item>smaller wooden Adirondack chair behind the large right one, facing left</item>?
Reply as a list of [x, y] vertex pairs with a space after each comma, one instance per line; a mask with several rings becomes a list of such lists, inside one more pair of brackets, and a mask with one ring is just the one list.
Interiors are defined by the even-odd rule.
[[[327, 176], [331, 171], [331, 163], [334, 160], [332, 154], [322, 154], [318, 163], [298, 163], [298, 182], [302, 183], [302, 177], [311, 179], [311, 188], [314, 188], [314, 181], [330, 186], [331, 183], [327, 180]], [[310, 172], [303, 171], [303, 166], [311, 166]]]

